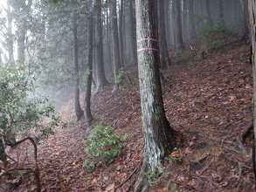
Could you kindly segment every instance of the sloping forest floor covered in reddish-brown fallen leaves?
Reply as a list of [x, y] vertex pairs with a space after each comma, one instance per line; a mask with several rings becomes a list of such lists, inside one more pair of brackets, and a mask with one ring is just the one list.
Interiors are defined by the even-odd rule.
[[[163, 161], [163, 176], [148, 191], [253, 191], [252, 138], [239, 139], [253, 120], [249, 58], [250, 46], [234, 42], [209, 51], [205, 59], [190, 56], [173, 61], [163, 72], [166, 115], [179, 135], [176, 150]], [[111, 93], [109, 84], [93, 95], [92, 127], [81, 120], [74, 127], [59, 128], [58, 134], [38, 145], [42, 191], [133, 190], [143, 139], [136, 67], [130, 71], [133, 86]], [[61, 115], [63, 120], [75, 120], [73, 100]], [[102, 118], [116, 134], [128, 133], [129, 138], [113, 163], [89, 173], [82, 168], [88, 158], [84, 141]], [[33, 191], [34, 186], [31, 175], [16, 191]]]

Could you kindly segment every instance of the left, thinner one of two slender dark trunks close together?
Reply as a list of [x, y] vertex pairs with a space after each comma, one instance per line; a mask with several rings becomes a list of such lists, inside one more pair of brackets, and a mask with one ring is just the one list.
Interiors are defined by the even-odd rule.
[[84, 112], [80, 106], [80, 69], [79, 69], [79, 47], [78, 47], [78, 26], [76, 17], [73, 17], [73, 64], [75, 72], [75, 93], [74, 93], [74, 108], [77, 121], [79, 121]]

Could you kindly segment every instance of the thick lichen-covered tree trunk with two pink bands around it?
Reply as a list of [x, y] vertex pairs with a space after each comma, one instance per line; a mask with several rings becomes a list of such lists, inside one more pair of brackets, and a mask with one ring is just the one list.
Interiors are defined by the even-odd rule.
[[[161, 173], [161, 160], [173, 147], [174, 131], [165, 117], [160, 85], [157, 1], [136, 0], [137, 49], [142, 106], [144, 154], [135, 191], [147, 185], [147, 175]], [[145, 38], [152, 38], [147, 40]], [[144, 190], [143, 190], [144, 191]]]

